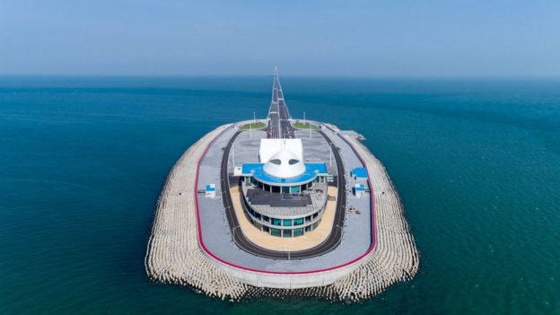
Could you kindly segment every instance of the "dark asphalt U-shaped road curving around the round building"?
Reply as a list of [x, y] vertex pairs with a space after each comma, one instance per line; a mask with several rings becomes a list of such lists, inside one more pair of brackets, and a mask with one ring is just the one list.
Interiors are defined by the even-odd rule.
[[[274, 258], [274, 259], [301, 259], [301, 258], [312, 258], [323, 255], [328, 251], [335, 249], [342, 239], [342, 227], [344, 226], [344, 219], [346, 213], [346, 179], [344, 177], [345, 171], [342, 163], [342, 158], [340, 153], [338, 153], [337, 146], [325, 135], [322, 131], [318, 130], [319, 134], [323, 136], [335, 156], [335, 161], [337, 162], [337, 208], [335, 212], [335, 221], [332, 226], [332, 230], [328, 235], [327, 240], [321, 242], [318, 246], [311, 249], [304, 249], [299, 251], [278, 251], [265, 249], [257, 244], [249, 241], [243, 232], [241, 232], [240, 224], [235, 215], [235, 210], [233, 209], [232, 195], [230, 194], [230, 178], [228, 175], [228, 161], [230, 156], [230, 150], [235, 138], [240, 135], [241, 131], [236, 132], [227, 146], [223, 150], [222, 164], [220, 169], [221, 177], [221, 188], [222, 188], [222, 200], [223, 207], [225, 209], [225, 214], [230, 225], [232, 232], [233, 241], [243, 250], [249, 252], [250, 254], [264, 257], [264, 258]], [[239, 185], [239, 180], [234, 181], [235, 185]], [[241, 195], [240, 195], [241, 197]], [[242, 198], [242, 197], [241, 197]], [[241, 201], [241, 205], [243, 202]]]

